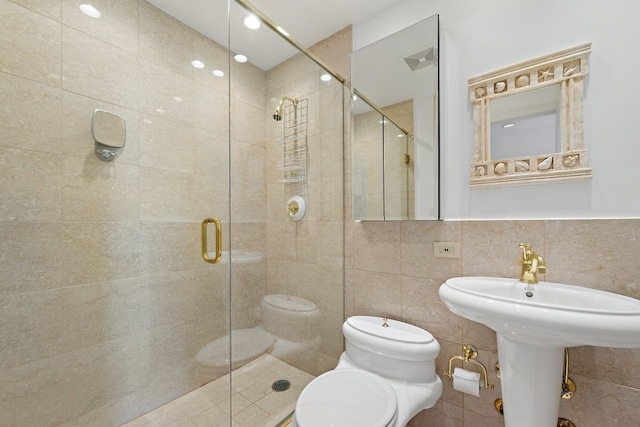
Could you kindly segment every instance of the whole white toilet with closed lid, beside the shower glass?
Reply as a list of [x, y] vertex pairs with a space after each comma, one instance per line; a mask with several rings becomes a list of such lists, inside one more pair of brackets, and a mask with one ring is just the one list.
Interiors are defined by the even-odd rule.
[[440, 344], [417, 326], [353, 316], [342, 325], [338, 366], [307, 385], [294, 427], [404, 427], [442, 395]]

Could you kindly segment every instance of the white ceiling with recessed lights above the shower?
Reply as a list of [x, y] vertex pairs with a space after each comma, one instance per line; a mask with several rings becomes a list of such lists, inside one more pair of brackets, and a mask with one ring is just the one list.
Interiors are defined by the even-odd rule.
[[[231, 2], [231, 28], [227, 25], [227, 0], [148, 1], [233, 52], [245, 54], [264, 70], [296, 53], [264, 25], [255, 31], [244, 28], [242, 18], [247, 12], [235, 1]], [[399, 1], [402, 0], [253, 0], [251, 4], [298, 43], [309, 47]]]

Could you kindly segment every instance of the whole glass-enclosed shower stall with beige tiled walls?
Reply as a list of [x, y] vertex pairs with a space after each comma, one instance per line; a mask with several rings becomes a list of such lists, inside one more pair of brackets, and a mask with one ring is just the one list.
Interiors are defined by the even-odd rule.
[[[272, 22], [249, 37], [291, 55], [234, 60], [244, 2], [212, 0], [217, 40], [154, 1], [80, 3], [0, 0], [0, 426], [153, 425], [203, 387], [193, 424], [277, 425], [342, 351], [344, 86]], [[298, 221], [285, 97], [306, 105]], [[110, 161], [96, 110], [125, 124]], [[248, 387], [256, 361], [301, 374]]]

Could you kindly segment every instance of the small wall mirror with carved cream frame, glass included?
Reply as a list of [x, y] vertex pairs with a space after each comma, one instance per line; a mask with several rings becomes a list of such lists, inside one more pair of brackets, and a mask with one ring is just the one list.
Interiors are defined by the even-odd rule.
[[591, 178], [583, 141], [591, 44], [472, 77], [471, 187]]

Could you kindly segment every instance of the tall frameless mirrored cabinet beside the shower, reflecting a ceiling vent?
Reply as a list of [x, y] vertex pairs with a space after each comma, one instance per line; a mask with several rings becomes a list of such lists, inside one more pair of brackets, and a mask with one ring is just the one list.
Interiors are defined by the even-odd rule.
[[434, 15], [351, 55], [355, 220], [437, 220], [439, 29]]

